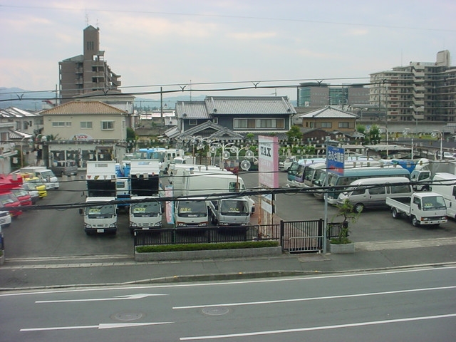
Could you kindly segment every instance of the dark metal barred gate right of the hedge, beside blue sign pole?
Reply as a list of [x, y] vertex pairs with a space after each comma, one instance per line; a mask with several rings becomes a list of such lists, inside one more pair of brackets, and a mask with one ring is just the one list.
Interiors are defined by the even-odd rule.
[[324, 220], [281, 221], [281, 246], [289, 253], [322, 252]]

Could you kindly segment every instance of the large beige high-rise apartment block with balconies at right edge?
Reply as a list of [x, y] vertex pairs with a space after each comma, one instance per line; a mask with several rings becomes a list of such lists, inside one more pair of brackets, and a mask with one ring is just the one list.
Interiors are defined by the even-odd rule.
[[456, 66], [450, 66], [450, 51], [438, 52], [435, 63], [371, 73], [369, 102], [388, 122], [455, 122]]

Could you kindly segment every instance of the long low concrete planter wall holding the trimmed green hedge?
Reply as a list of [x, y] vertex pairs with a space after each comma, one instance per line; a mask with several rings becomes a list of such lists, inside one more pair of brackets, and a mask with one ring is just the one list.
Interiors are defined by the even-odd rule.
[[246, 249], [217, 249], [213, 251], [182, 251], [182, 252], [157, 252], [136, 253], [135, 261], [170, 261], [170, 260], [199, 260], [199, 259], [227, 259], [267, 257], [282, 254], [282, 248], [262, 247]]

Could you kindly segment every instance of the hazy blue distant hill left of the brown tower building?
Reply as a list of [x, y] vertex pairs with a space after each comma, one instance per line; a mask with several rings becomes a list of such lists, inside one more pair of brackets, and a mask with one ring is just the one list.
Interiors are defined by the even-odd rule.
[[0, 109], [16, 107], [22, 110], [41, 110], [43, 100], [56, 98], [52, 91], [30, 91], [0, 87]]

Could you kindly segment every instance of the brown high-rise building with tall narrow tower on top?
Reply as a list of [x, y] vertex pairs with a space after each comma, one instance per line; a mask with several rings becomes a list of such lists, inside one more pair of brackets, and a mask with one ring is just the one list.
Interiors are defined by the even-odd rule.
[[73, 96], [95, 90], [117, 90], [120, 75], [106, 63], [105, 51], [100, 51], [100, 29], [88, 26], [83, 33], [83, 55], [58, 62], [61, 103]]

